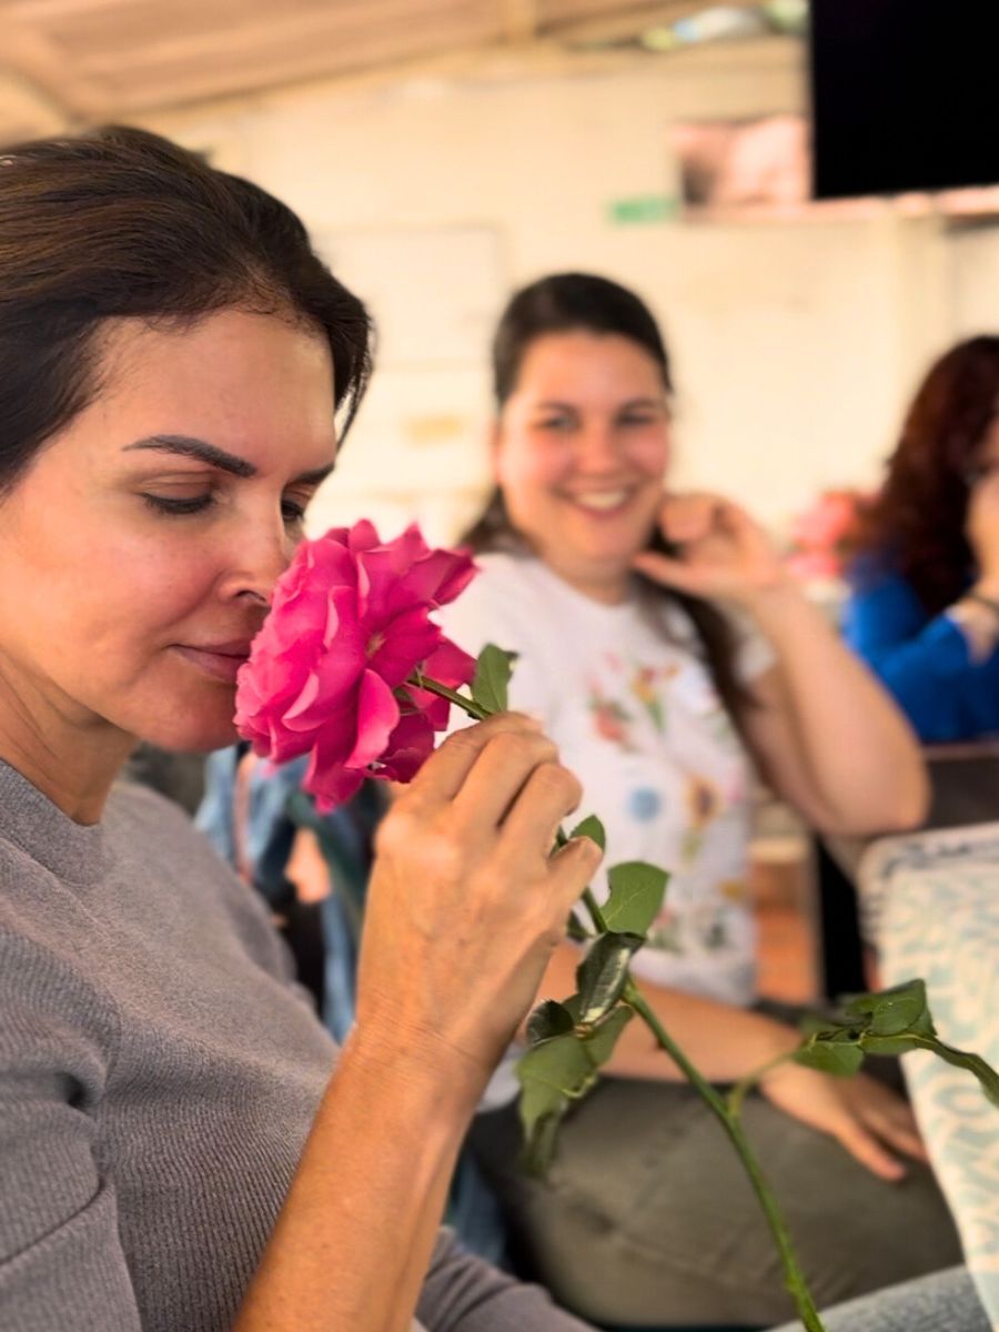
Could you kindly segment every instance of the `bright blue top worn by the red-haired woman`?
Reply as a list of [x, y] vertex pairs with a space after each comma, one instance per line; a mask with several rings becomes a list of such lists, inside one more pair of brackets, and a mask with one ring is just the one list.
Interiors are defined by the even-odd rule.
[[923, 742], [999, 734], [999, 647], [974, 662], [960, 627], [928, 615], [900, 574], [858, 569], [843, 629]]

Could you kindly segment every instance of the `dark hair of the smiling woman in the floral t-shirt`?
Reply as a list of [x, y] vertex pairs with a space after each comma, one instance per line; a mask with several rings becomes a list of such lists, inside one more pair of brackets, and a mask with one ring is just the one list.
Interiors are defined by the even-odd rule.
[[[626, 337], [647, 352], [659, 368], [663, 388], [673, 392], [670, 360], [649, 306], [618, 282], [591, 273], [554, 273], [522, 288], [500, 317], [493, 338], [493, 390], [502, 409], [517, 388], [523, 357], [535, 338], [549, 333], [583, 330], [598, 336]], [[465, 535], [476, 551], [522, 549], [523, 539], [506, 511], [502, 492], [493, 490], [481, 517]], [[658, 529], [650, 549], [675, 554]], [[682, 606], [703, 646], [707, 667], [729, 713], [738, 717], [750, 703], [735, 674], [735, 642], [729, 621], [710, 602], [665, 589], [642, 578], [653, 595]]]

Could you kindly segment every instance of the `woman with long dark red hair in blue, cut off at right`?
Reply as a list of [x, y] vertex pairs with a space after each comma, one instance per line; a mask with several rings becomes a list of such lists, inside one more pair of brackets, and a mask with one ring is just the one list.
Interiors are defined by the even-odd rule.
[[919, 386], [846, 634], [923, 741], [999, 733], [999, 337], [959, 342]]

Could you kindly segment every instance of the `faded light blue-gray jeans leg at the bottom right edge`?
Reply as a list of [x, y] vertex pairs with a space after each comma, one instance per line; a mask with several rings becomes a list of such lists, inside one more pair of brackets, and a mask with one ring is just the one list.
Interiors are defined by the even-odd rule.
[[[963, 1268], [924, 1276], [822, 1315], [826, 1332], [990, 1332], [971, 1277]], [[778, 1332], [799, 1332], [789, 1323]]]

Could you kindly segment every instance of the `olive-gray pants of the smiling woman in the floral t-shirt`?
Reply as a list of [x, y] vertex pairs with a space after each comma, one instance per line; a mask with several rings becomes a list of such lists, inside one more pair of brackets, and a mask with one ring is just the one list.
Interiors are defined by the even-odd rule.
[[[743, 1122], [821, 1308], [960, 1261], [926, 1167], [887, 1184], [759, 1096]], [[472, 1144], [527, 1273], [578, 1316], [771, 1327], [793, 1312], [742, 1166], [686, 1084], [605, 1082], [562, 1126], [545, 1181], [518, 1168], [515, 1107], [477, 1116]]]

